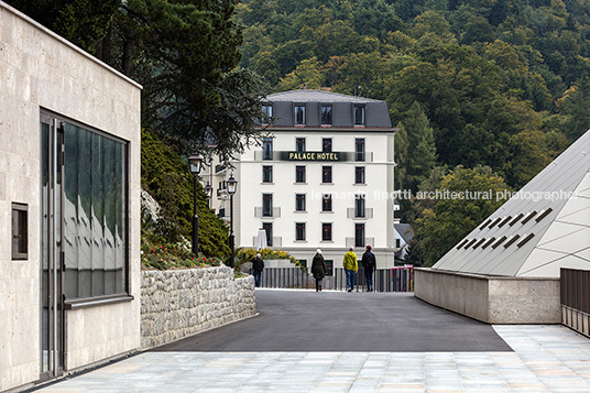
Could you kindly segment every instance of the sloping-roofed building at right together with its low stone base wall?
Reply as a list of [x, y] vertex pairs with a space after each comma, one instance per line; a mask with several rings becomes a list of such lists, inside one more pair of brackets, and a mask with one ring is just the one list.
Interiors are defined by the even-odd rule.
[[590, 269], [590, 131], [416, 270], [416, 296], [493, 324], [559, 323], [561, 268]]

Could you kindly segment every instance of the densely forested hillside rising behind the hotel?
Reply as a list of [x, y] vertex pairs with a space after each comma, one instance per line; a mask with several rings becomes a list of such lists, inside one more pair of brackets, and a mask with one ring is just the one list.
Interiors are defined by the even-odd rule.
[[244, 0], [237, 15], [241, 64], [276, 90], [387, 101], [402, 188], [435, 163], [518, 188], [590, 128], [588, 0]]

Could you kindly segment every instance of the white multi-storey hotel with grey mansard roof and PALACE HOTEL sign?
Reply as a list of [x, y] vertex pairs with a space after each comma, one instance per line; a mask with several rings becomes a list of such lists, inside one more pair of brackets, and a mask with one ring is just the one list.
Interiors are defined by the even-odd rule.
[[[256, 247], [263, 228], [270, 247], [307, 265], [318, 248], [328, 268], [340, 268], [350, 247], [360, 259], [370, 244], [378, 266], [392, 266], [394, 129], [386, 103], [302, 89], [269, 96], [263, 110], [263, 145], [233, 162], [236, 247]], [[223, 188], [229, 174], [217, 165], [212, 176]], [[229, 219], [229, 200], [218, 203]]]

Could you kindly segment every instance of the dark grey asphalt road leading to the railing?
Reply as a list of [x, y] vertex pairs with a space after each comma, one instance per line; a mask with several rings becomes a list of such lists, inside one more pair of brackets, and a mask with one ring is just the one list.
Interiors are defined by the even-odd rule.
[[260, 315], [154, 351], [512, 351], [492, 326], [412, 295], [256, 291]]

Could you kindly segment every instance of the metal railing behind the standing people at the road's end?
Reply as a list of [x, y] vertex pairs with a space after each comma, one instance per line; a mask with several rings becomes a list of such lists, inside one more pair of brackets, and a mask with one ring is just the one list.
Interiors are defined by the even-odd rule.
[[[321, 281], [324, 290], [347, 290], [347, 277], [342, 268], [330, 269], [330, 275]], [[265, 288], [315, 288], [316, 281], [301, 268], [266, 268], [262, 271], [261, 287]], [[373, 272], [375, 292], [414, 292], [413, 266], [378, 269]], [[367, 292], [364, 270], [354, 274], [356, 292]]]

